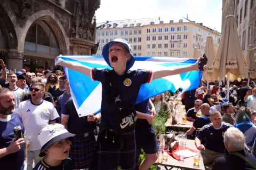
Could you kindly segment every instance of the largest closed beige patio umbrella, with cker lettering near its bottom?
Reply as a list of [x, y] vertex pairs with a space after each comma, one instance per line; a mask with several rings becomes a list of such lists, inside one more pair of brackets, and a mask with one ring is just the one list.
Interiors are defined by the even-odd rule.
[[[219, 71], [221, 80], [225, 80], [225, 75], [228, 75], [228, 87], [230, 73], [237, 77], [244, 77], [246, 75], [246, 62], [244, 60], [242, 48], [239, 42], [236, 19], [234, 15], [228, 15], [226, 17], [220, 44], [212, 67], [213, 73]], [[227, 91], [227, 99], [229, 99], [229, 91]]]

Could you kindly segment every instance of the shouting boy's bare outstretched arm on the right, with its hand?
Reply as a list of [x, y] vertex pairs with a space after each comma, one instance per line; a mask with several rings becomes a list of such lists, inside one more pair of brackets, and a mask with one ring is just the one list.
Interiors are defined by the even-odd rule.
[[[153, 79], [162, 78], [162, 77], [166, 77], [166, 76], [172, 76], [172, 75], [178, 75], [178, 74], [181, 74], [183, 72], [188, 72], [188, 71], [194, 71], [194, 70], [199, 71], [198, 63], [201, 59], [203, 59], [202, 56], [200, 56], [197, 59], [197, 62], [195, 64], [190, 64], [190, 65], [186, 65], [186, 66], [175, 66], [175, 67], [167, 68], [166, 70], [154, 71]], [[207, 66], [204, 66], [204, 70], [206, 70], [206, 69], [207, 69]]]

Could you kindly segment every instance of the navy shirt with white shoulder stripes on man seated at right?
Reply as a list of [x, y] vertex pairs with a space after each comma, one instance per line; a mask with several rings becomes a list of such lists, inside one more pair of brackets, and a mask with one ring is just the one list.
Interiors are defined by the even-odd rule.
[[204, 125], [196, 137], [200, 140], [206, 138], [205, 148], [215, 152], [225, 153], [226, 148], [223, 142], [223, 136], [229, 127], [233, 127], [233, 125], [222, 122], [221, 127], [216, 129], [213, 127], [213, 123], [210, 123]]

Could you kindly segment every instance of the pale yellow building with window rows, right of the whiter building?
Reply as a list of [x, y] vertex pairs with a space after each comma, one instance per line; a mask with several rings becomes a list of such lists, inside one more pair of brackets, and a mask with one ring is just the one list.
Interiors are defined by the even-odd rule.
[[213, 37], [216, 50], [220, 39], [217, 31], [185, 18], [152, 19], [143, 26], [142, 33], [142, 54], [147, 56], [192, 58], [195, 47], [203, 55], [207, 36]]

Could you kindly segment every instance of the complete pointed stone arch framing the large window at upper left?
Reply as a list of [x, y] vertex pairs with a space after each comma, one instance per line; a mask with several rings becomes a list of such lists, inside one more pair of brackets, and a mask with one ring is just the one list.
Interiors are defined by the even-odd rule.
[[64, 28], [62, 27], [60, 21], [50, 10], [42, 10], [31, 15], [27, 21], [25, 22], [23, 29], [21, 30], [21, 34], [19, 34], [19, 44], [18, 50], [23, 51], [25, 38], [30, 26], [34, 25], [34, 23], [44, 21], [47, 25], [50, 26], [53, 33], [55, 34], [57, 41], [59, 42], [60, 53], [67, 55], [69, 54], [69, 38], [66, 35]]

